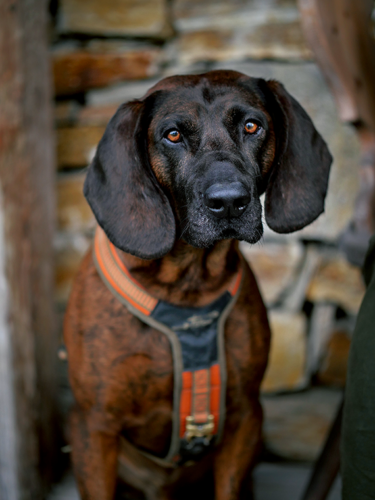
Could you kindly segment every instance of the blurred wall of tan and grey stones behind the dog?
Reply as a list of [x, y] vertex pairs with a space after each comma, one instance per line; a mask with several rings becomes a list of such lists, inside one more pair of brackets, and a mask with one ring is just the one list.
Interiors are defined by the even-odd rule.
[[[302, 231], [242, 244], [273, 329], [265, 394], [345, 381], [364, 293], [336, 242], [357, 191], [358, 145], [342, 125], [294, 0], [56, 0], [51, 5], [58, 231], [56, 302], [64, 311], [95, 227], [85, 168], [117, 106], [172, 74], [228, 68], [275, 78], [304, 106], [334, 156], [326, 212]], [[327, 423], [328, 425], [328, 423]], [[326, 429], [326, 427], [324, 428]], [[321, 435], [324, 432], [321, 431]]]

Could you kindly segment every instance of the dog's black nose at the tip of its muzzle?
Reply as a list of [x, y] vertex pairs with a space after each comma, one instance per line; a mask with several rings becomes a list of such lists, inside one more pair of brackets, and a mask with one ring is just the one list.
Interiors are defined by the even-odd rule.
[[205, 192], [204, 203], [218, 219], [239, 217], [250, 203], [250, 195], [241, 182], [216, 183]]

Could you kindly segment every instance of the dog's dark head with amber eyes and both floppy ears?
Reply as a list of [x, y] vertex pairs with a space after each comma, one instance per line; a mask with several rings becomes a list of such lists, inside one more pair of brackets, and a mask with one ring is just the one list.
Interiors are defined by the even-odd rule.
[[176, 238], [196, 247], [306, 226], [324, 210], [332, 158], [276, 81], [234, 71], [166, 78], [120, 106], [84, 193], [118, 248], [151, 259]]

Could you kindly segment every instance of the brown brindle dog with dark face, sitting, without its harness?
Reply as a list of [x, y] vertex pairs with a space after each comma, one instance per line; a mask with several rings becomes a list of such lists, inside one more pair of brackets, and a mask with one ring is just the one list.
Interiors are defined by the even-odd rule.
[[330, 164], [310, 118], [276, 81], [233, 71], [176, 76], [120, 106], [85, 195], [132, 278], [159, 300], [202, 307], [228, 289], [241, 266], [244, 273], [225, 323], [222, 438], [196, 463], [163, 466], [144, 452], [164, 457], [170, 446], [170, 343], [117, 300], [86, 256], [65, 320], [82, 499], [115, 498], [119, 475], [147, 500], [251, 497], [270, 332], [238, 240], [261, 238], [264, 192], [275, 231], [312, 222], [324, 208]]

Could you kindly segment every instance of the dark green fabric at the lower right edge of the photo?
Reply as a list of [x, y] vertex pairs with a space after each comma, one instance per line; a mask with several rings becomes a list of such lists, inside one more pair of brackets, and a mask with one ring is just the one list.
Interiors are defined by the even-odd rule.
[[349, 355], [341, 441], [343, 500], [375, 500], [375, 236]]

